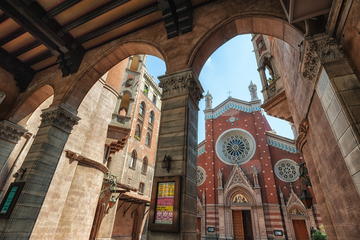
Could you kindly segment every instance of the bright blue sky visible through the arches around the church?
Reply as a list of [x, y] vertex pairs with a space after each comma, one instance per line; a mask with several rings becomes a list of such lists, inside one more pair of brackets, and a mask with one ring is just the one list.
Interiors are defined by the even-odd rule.
[[[149, 73], [158, 77], [166, 72], [163, 60], [147, 56], [146, 65]], [[230, 39], [218, 48], [206, 61], [203, 66], [199, 80], [204, 89], [213, 96], [213, 108], [229, 97], [250, 101], [248, 86], [250, 81], [257, 85], [259, 98], [263, 101], [261, 94], [261, 80], [257, 71], [257, 64], [251, 35], [239, 35]], [[205, 99], [199, 103], [199, 123], [198, 123], [198, 142], [205, 139]], [[290, 124], [287, 121], [268, 116], [271, 128], [279, 135], [293, 139]]]

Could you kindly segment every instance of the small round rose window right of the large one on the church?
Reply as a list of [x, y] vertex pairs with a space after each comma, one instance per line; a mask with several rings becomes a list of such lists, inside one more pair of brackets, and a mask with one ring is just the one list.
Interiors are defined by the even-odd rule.
[[295, 182], [299, 176], [299, 165], [291, 159], [282, 159], [275, 164], [275, 175], [284, 182]]

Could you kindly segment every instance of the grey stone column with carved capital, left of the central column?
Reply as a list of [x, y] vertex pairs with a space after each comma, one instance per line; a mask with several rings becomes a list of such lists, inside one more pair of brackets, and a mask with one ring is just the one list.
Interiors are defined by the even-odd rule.
[[43, 110], [42, 122], [26, 156], [24, 174], [16, 181], [25, 186], [10, 215], [2, 219], [2, 239], [29, 239], [58, 165], [63, 148], [74, 125], [76, 111], [60, 105]]

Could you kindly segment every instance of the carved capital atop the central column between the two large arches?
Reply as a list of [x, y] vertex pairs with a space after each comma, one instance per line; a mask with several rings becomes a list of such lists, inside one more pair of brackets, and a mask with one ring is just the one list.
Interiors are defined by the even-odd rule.
[[160, 76], [159, 80], [163, 99], [189, 94], [197, 104], [203, 97], [204, 90], [191, 69]]

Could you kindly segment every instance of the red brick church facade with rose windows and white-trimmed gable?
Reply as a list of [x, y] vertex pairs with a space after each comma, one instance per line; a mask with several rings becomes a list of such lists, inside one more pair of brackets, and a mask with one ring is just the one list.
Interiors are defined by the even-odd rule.
[[198, 239], [309, 239], [321, 218], [301, 154], [294, 140], [272, 131], [256, 85], [249, 90], [252, 101], [229, 97], [214, 108], [211, 95], [205, 96]]

